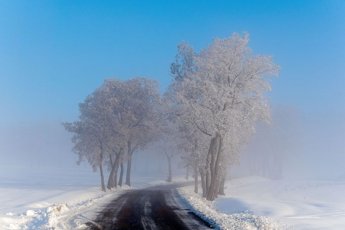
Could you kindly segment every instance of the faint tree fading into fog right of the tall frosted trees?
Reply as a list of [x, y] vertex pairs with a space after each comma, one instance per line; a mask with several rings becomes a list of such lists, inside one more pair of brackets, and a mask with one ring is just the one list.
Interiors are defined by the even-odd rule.
[[258, 124], [242, 158], [250, 173], [271, 179], [283, 177], [284, 166], [296, 157], [301, 142], [300, 115], [296, 108], [276, 105], [271, 124]]

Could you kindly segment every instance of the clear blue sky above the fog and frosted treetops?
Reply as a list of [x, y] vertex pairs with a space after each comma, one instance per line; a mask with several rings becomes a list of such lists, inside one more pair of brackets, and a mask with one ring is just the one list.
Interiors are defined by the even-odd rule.
[[242, 31], [282, 67], [273, 103], [345, 108], [345, 1], [110, 2], [0, 1], [0, 127], [76, 119], [104, 78], [164, 89], [179, 42], [200, 50]]

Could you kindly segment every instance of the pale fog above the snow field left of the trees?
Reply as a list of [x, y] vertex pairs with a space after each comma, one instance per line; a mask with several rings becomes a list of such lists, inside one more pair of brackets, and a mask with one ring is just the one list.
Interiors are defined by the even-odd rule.
[[2, 125], [0, 145], [2, 166], [72, 167], [76, 156], [72, 143], [59, 121]]

